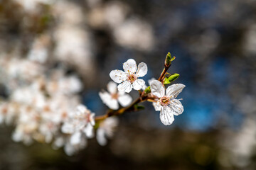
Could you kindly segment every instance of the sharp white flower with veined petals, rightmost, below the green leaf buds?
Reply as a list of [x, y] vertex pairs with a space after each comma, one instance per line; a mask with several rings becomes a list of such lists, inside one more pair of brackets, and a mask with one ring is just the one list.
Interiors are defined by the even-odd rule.
[[160, 81], [154, 80], [150, 84], [151, 93], [157, 96], [158, 99], [154, 104], [156, 111], [160, 111], [160, 119], [164, 125], [171, 125], [174, 122], [174, 115], [183, 113], [183, 106], [176, 98], [185, 87], [183, 84], [173, 84], [164, 89]]

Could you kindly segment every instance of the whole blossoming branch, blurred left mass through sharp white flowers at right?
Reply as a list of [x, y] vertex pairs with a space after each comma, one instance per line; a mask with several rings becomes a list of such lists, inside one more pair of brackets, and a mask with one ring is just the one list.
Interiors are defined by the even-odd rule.
[[[19, 67], [18, 63], [26, 67]], [[133, 59], [124, 62], [124, 71], [110, 72], [112, 81], [107, 84], [107, 91], [99, 92], [102, 102], [110, 108], [103, 117], [95, 117], [95, 113], [82, 105], [78, 96], [82, 82], [75, 74], [66, 75], [61, 67], [48, 71], [43, 62], [30, 55], [28, 60], [3, 56], [0, 67], [0, 81], [9, 93], [9, 98], [0, 101], [0, 124], [15, 125], [12, 139], [26, 145], [33, 141], [46, 142], [54, 149], [64, 147], [68, 155], [85, 148], [92, 137], [96, 137], [100, 145], [106, 145], [107, 138], [114, 135], [118, 125], [114, 115], [137, 104], [132, 103], [129, 96], [132, 89], [139, 91], [139, 102], [142, 102], [140, 98], [153, 102], [164, 125], [171, 125], [174, 115], [183, 113], [176, 96], [185, 86], [173, 84], [165, 90], [164, 79], [153, 78], [149, 80], [150, 88], [146, 87], [141, 77], [146, 75], [148, 68], [144, 62], [137, 66]]]

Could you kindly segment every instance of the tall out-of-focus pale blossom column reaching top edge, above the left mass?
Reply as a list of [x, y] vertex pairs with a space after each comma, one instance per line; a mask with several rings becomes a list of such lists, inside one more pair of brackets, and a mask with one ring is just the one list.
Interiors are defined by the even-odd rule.
[[94, 67], [93, 39], [85, 27], [85, 13], [71, 1], [57, 1], [53, 15], [58, 19], [58, 26], [53, 30], [55, 60], [73, 65], [89, 79]]

